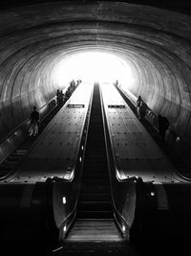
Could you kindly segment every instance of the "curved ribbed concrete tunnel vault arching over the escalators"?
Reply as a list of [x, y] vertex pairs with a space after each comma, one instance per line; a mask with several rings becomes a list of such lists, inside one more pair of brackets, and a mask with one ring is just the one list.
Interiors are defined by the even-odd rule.
[[[189, 8], [173, 12], [180, 2], [173, 6], [170, 1], [156, 2], [156, 7], [149, 1], [41, 2], [1, 4], [2, 138], [28, 118], [32, 105], [42, 108], [53, 98], [53, 72], [62, 58], [96, 50], [125, 59], [135, 77], [130, 91], [141, 95], [154, 112], [166, 115], [172, 128], [190, 140]], [[186, 7], [188, 2], [183, 2]]]

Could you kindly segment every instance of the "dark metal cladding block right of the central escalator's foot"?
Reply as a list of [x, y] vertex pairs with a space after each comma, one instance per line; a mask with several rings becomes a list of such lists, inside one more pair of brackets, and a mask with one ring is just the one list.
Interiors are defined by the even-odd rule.
[[[141, 252], [158, 250], [178, 255], [189, 244], [191, 184], [137, 183], [137, 211], [130, 240]], [[179, 253], [178, 253], [179, 252]], [[178, 254], [177, 254], [178, 253]]]

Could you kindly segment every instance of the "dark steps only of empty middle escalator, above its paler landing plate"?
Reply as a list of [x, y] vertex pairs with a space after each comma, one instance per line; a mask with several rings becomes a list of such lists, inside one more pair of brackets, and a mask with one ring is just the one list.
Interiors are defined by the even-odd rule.
[[99, 89], [95, 86], [77, 218], [113, 218]]

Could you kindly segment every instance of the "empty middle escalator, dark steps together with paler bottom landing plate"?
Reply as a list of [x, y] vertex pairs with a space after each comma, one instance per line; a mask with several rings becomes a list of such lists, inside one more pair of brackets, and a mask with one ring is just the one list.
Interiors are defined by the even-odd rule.
[[90, 251], [126, 255], [130, 248], [113, 216], [99, 85], [95, 84], [76, 219], [62, 244], [63, 255]]

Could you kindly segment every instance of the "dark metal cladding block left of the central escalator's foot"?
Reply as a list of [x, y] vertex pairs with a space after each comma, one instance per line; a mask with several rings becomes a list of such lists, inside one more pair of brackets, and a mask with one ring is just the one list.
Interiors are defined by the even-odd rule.
[[3, 255], [48, 252], [58, 241], [53, 219], [53, 180], [1, 184], [0, 240]]

